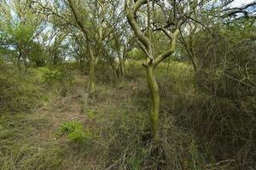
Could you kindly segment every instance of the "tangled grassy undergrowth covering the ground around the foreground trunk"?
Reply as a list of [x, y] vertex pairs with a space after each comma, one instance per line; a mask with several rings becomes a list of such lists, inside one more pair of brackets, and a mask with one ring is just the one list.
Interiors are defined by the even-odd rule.
[[[129, 75], [114, 86], [97, 83], [91, 98], [84, 88], [87, 79], [78, 71], [16, 71], [5, 65], [0, 74], [0, 169], [253, 169], [253, 116], [230, 99], [202, 92], [189, 65], [172, 65], [169, 72], [160, 66], [160, 136], [152, 140], [141, 66], [129, 67]], [[61, 108], [65, 104], [57, 105], [58, 98], [77, 101], [76, 114], [86, 118], [60, 122], [48, 132], [57, 133], [55, 139], [40, 141], [36, 134], [47, 132], [46, 124], [57, 115], [42, 119], [27, 113], [50, 102]]]

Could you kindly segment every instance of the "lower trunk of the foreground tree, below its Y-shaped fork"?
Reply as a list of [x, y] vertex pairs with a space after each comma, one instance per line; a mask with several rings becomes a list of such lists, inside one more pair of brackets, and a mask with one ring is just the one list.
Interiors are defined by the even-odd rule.
[[148, 88], [151, 95], [151, 112], [150, 112], [150, 123], [152, 133], [157, 136], [159, 131], [159, 112], [160, 112], [160, 92], [159, 87], [155, 79], [154, 67], [148, 65], [146, 68]]

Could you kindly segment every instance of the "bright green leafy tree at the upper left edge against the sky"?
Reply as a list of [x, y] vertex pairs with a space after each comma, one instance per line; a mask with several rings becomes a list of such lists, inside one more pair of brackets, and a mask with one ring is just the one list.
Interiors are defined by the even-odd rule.
[[[19, 67], [21, 62], [28, 66], [29, 61], [37, 66], [44, 65], [43, 48], [36, 42], [36, 38], [44, 30], [42, 15], [36, 16], [26, 1], [3, 2], [1, 5], [1, 48], [15, 53], [15, 61]], [[33, 51], [35, 48], [38, 50]]]

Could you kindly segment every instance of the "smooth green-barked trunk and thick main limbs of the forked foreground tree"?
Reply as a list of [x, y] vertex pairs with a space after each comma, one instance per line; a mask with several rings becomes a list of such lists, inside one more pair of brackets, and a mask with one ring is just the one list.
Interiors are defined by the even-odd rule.
[[[150, 111], [150, 122], [153, 136], [156, 137], [159, 133], [159, 115], [160, 115], [160, 92], [159, 87], [155, 79], [154, 69], [167, 57], [171, 56], [176, 49], [177, 44], [177, 36], [179, 34], [179, 29], [183, 24], [183, 21], [180, 20], [176, 24], [176, 29], [173, 32], [168, 32], [165, 27], [161, 27], [155, 29], [155, 31], [163, 31], [167, 37], [171, 39], [171, 46], [162, 54], [154, 57], [153, 46], [150, 40], [150, 8], [149, 2], [150, 0], [137, 0], [135, 3], [131, 5], [131, 1], [125, 0], [125, 12], [126, 18], [128, 20], [129, 25], [137, 36], [138, 40], [143, 44], [143, 51], [147, 56], [147, 61], [143, 64], [146, 68], [147, 72], [147, 82], [148, 88], [151, 94], [151, 111]], [[148, 30], [147, 35], [142, 31], [141, 27], [137, 24], [137, 20], [135, 19], [135, 15], [139, 8], [143, 6], [143, 4], [148, 3]], [[130, 7], [131, 5], [131, 7]]]

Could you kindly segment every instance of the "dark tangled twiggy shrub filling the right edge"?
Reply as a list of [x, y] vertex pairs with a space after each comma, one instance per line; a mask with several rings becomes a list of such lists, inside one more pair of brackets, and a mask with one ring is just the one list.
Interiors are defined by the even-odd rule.
[[[194, 126], [197, 129], [199, 126], [205, 126], [204, 129], [208, 129], [207, 133], [210, 134], [201, 133], [205, 138], [208, 135], [212, 136], [214, 144], [223, 148], [223, 151], [218, 151], [218, 154], [221, 152], [223, 154], [220, 155], [236, 156], [236, 161], [239, 161], [242, 167], [245, 166], [244, 164], [250, 167], [253, 166], [255, 152], [253, 147], [255, 144], [250, 135], [255, 133], [256, 116], [254, 114], [256, 70], [253, 66], [256, 60], [253, 59], [255, 43], [251, 31], [255, 26], [251, 25], [250, 20], [239, 22], [239, 26], [236, 24], [235, 22], [226, 29], [213, 29], [214, 37], [202, 33], [197, 39], [197, 56], [201, 62], [201, 68], [195, 75], [195, 83], [197, 88], [212, 95], [203, 106], [210, 107], [212, 110], [207, 109], [207, 112], [201, 114], [198, 111], [196, 113], [190, 111], [192, 115], [189, 122], [194, 122], [195, 117], [198, 116], [196, 119], [200, 124], [195, 122]], [[201, 50], [207, 51], [207, 54]], [[205, 99], [200, 99], [199, 103], [201, 100]], [[192, 108], [199, 107], [193, 103]], [[211, 127], [201, 123], [206, 120], [206, 116], [210, 117], [208, 123], [211, 123]], [[225, 139], [218, 137], [220, 134], [224, 135]], [[241, 157], [246, 153], [247, 160], [242, 160]]]

